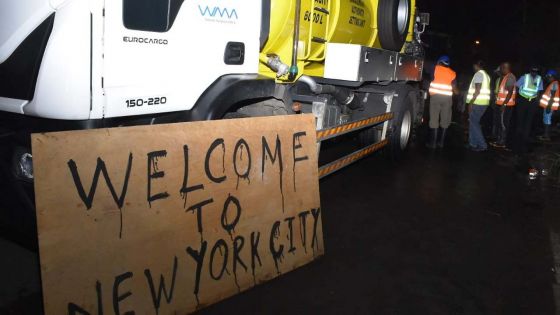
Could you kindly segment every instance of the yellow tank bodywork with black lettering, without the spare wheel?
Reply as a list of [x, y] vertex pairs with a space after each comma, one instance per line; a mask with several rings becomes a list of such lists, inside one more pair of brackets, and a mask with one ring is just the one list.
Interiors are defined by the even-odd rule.
[[[415, 11], [415, 0], [410, 0]], [[296, 0], [272, 0], [270, 35], [261, 51], [261, 60], [275, 54], [285, 64], [292, 60]], [[348, 43], [381, 48], [377, 32], [378, 0], [302, 0], [298, 50], [299, 75], [322, 76], [326, 43]], [[414, 15], [412, 15], [414, 16]], [[413, 39], [410, 23], [407, 41]], [[260, 73], [276, 77], [261, 63]], [[288, 82], [283, 77], [279, 82]]]

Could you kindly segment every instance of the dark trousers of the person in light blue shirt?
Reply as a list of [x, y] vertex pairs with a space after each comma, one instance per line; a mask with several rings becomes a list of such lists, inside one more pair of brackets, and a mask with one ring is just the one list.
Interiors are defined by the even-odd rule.
[[529, 137], [533, 126], [533, 118], [539, 109], [539, 100], [532, 101], [520, 96], [517, 98], [517, 126], [513, 150], [517, 154], [526, 154], [529, 150]]

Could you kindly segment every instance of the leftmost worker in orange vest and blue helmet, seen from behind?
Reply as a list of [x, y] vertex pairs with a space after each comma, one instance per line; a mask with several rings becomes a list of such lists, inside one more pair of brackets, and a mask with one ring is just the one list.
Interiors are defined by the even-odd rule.
[[[451, 70], [448, 56], [439, 58], [434, 71], [434, 80], [430, 84], [430, 138], [426, 146], [431, 149], [443, 148], [445, 133], [452, 119], [453, 91], [456, 90], [457, 74]], [[438, 130], [441, 136], [438, 141]]]

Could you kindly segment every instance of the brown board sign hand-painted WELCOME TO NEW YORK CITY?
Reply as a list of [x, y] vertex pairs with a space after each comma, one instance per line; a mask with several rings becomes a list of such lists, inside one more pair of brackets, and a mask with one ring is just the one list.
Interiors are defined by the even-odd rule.
[[311, 115], [32, 143], [46, 314], [184, 314], [323, 254]]

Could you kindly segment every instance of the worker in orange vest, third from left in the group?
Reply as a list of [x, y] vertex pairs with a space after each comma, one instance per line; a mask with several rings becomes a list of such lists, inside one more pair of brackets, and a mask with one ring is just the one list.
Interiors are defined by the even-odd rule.
[[490, 143], [497, 148], [506, 147], [509, 124], [517, 98], [516, 82], [510, 64], [507, 62], [501, 64], [500, 78], [496, 81], [496, 111], [494, 112], [494, 129], [497, 137], [496, 142]]

